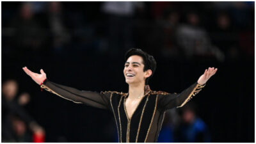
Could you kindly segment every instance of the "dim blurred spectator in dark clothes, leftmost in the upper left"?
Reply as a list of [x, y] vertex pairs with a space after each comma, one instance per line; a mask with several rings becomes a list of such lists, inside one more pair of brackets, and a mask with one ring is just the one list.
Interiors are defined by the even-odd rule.
[[17, 49], [15, 56], [20, 56], [24, 59], [26, 56], [22, 54], [33, 56], [33, 52], [45, 49], [45, 31], [36, 21], [31, 3], [21, 4], [19, 15], [12, 21], [10, 26], [15, 31], [13, 36], [13, 47]]

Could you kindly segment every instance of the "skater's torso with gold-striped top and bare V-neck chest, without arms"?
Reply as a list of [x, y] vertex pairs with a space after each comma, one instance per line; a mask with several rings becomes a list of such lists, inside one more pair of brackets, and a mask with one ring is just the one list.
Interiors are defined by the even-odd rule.
[[159, 107], [158, 93], [146, 93], [140, 99], [129, 99], [128, 93], [110, 97], [119, 142], [157, 142], [164, 113]]

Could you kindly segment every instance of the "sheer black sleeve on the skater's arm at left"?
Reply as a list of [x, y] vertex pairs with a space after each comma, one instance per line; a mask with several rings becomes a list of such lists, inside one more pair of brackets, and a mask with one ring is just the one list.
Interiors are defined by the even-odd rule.
[[70, 88], [61, 84], [52, 83], [48, 79], [44, 81], [41, 88], [54, 93], [63, 99], [71, 100], [78, 104], [86, 104], [95, 108], [109, 109], [110, 102], [109, 97], [112, 92], [90, 92], [77, 90], [76, 88]]

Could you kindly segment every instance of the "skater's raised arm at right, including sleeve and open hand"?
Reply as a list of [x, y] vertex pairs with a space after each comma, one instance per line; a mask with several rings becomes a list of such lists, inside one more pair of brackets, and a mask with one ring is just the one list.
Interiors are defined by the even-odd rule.
[[164, 93], [160, 95], [159, 105], [162, 110], [171, 109], [171, 108], [180, 108], [184, 106], [189, 100], [193, 98], [198, 92], [204, 88], [205, 83], [213, 76], [217, 71], [217, 68], [206, 69], [204, 74], [199, 77], [197, 83], [192, 84], [186, 90], [181, 93]]

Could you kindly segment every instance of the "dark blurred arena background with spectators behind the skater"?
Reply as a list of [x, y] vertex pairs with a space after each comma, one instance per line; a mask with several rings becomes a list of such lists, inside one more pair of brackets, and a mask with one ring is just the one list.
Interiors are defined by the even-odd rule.
[[152, 90], [179, 93], [218, 72], [166, 113], [159, 142], [254, 142], [254, 2], [1, 2], [2, 142], [116, 142], [113, 115], [41, 92], [54, 83], [127, 92], [124, 54], [152, 54]]

